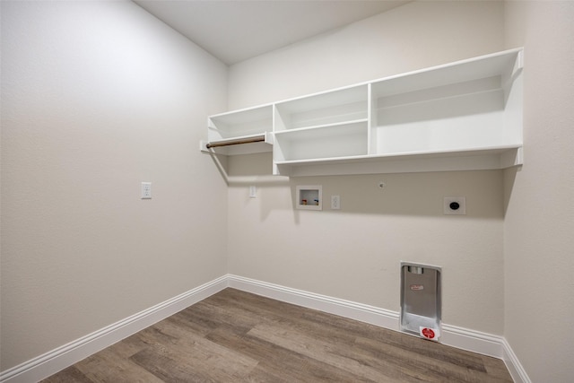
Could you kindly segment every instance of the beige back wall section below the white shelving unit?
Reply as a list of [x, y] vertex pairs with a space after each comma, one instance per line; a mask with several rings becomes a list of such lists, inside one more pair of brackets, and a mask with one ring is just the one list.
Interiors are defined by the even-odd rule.
[[[324, 210], [294, 210], [296, 185], [321, 185]], [[397, 311], [400, 262], [440, 265], [445, 323], [501, 334], [500, 171], [291, 178], [229, 195], [231, 274]], [[442, 214], [453, 195], [465, 217]]]

